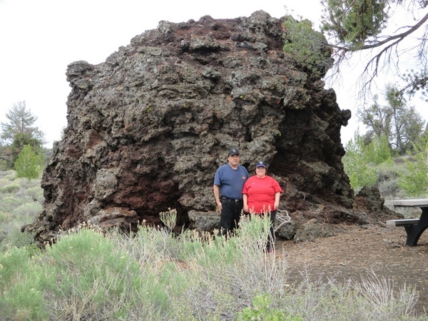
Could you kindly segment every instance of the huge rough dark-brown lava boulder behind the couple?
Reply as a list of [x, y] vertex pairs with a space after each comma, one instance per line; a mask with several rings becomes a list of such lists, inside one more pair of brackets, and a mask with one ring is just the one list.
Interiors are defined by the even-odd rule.
[[213, 177], [232, 146], [250, 173], [256, 161], [270, 165], [295, 224], [367, 222], [352, 209], [341, 161], [350, 111], [284, 54], [283, 35], [282, 19], [263, 11], [161, 21], [104, 63], [71, 63], [68, 126], [41, 183], [45, 208], [24, 229], [42, 244], [83, 222], [160, 224], [168, 208], [178, 228], [214, 222]]

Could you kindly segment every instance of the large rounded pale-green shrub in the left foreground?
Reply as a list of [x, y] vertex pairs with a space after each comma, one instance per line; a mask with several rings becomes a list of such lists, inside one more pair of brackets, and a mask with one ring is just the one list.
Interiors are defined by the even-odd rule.
[[49, 285], [57, 304], [48, 308], [58, 320], [105, 320], [108, 315], [113, 320], [122, 306], [136, 300], [132, 297], [136, 293], [151, 300], [161, 297], [159, 303], [167, 304], [155, 275], [141, 275], [140, 265], [128, 253], [94, 230], [83, 228], [62, 236], [46, 254], [51, 273], [62, 280]]

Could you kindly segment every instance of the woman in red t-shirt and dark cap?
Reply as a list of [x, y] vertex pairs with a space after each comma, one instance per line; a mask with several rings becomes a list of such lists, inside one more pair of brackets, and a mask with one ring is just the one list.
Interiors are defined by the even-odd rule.
[[270, 213], [270, 233], [267, 238], [266, 250], [273, 251], [275, 218], [280, 206], [282, 188], [280, 184], [266, 175], [267, 166], [264, 161], [255, 165], [255, 175], [248, 178], [243, 188], [243, 210], [250, 214]]

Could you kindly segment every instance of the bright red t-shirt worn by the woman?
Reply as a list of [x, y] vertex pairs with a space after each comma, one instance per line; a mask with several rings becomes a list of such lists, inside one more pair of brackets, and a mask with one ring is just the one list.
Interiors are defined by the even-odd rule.
[[251, 213], [264, 213], [274, 210], [275, 193], [282, 193], [280, 184], [270, 176], [258, 178], [253, 175], [244, 184], [243, 194], [248, 195], [248, 210]]

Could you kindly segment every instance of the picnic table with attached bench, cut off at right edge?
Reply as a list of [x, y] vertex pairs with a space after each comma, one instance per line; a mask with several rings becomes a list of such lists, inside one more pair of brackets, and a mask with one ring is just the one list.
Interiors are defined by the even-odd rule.
[[406, 245], [416, 246], [424, 230], [428, 228], [428, 198], [413, 200], [385, 200], [384, 205], [394, 210], [401, 208], [420, 208], [420, 218], [404, 218], [402, 220], [387, 220], [387, 225], [403, 226], [407, 233]]

